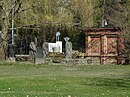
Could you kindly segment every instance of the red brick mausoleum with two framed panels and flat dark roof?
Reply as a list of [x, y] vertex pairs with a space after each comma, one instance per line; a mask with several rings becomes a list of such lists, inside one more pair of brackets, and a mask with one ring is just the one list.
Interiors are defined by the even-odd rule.
[[89, 28], [86, 35], [86, 57], [100, 64], [123, 64], [123, 32], [116, 28]]

